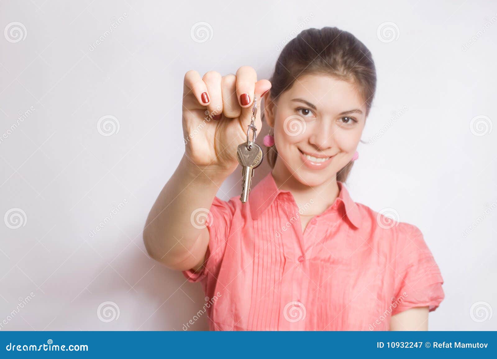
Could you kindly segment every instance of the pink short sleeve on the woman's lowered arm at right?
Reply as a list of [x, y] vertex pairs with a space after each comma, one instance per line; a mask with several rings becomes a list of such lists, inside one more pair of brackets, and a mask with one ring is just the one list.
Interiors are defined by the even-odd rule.
[[444, 298], [440, 269], [419, 228], [405, 223], [396, 243], [392, 315], [414, 307], [435, 310]]

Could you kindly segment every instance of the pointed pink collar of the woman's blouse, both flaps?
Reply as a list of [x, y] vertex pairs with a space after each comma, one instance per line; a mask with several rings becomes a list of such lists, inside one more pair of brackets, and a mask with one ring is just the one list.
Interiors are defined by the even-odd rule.
[[[339, 193], [335, 203], [338, 201], [345, 206], [345, 214], [347, 215], [347, 218], [355, 227], [359, 228], [361, 221], [357, 204], [350, 198], [345, 185], [340, 181], [337, 181], [336, 183], [338, 184]], [[295, 202], [290, 191], [280, 190], [276, 186], [272, 172], [269, 172], [259, 183], [257, 183], [248, 195], [248, 203], [252, 219], [257, 219], [269, 206], [271, 206], [276, 197], [280, 194], [281, 196]]]

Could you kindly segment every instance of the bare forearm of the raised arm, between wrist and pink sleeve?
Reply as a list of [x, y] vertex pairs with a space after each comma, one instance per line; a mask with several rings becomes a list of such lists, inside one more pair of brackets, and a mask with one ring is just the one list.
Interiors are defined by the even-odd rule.
[[229, 173], [204, 168], [183, 156], [148, 215], [143, 238], [150, 256], [168, 267], [191, 256], [202, 230], [192, 224], [192, 213], [210, 209]]

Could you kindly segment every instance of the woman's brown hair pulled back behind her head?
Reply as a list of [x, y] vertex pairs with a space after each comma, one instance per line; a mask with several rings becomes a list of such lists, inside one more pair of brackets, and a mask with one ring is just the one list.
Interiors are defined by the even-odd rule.
[[[336, 27], [307, 29], [299, 33], [281, 51], [270, 78], [270, 98], [289, 89], [297, 77], [323, 73], [357, 86], [365, 104], [366, 116], [371, 109], [376, 90], [376, 69], [371, 52], [354, 35]], [[262, 113], [262, 121], [264, 116]], [[267, 147], [266, 158], [274, 168], [278, 151]], [[336, 180], [345, 182], [353, 166], [350, 161], [337, 174]]]

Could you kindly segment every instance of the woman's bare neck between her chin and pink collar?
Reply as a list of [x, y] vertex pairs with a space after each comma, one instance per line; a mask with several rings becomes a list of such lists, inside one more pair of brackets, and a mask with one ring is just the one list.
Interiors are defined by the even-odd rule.
[[271, 173], [276, 186], [282, 191], [290, 191], [297, 206], [301, 205], [303, 216], [323, 213], [335, 202], [340, 192], [336, 176], [310, 185], [297, 173], [291, 173], [279, 157]]

